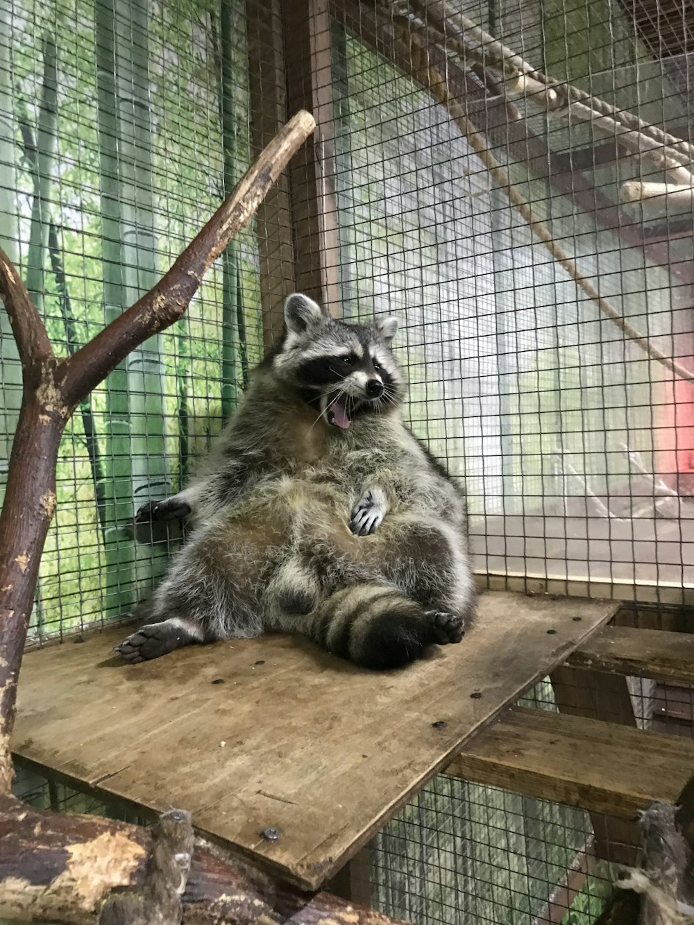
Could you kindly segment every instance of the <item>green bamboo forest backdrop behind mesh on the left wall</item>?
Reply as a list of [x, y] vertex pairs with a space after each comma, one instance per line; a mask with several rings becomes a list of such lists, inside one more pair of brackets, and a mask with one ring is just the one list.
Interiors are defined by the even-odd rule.
[[[242, 15], [233, 0], [221, 13], [185, 0], [0, 3], [0, 239], [57, 352], [147, 290], [248, 166]], [[32, 635], [127, 611], [161, 573], [170, 544], [133, 543], [133, 512], [180, 487], [233, 408], [261, 352], [258, 302], [249, 228], [184, 320], [75, 413]], [[1, 346], [4, 484], [20, 398], [5, 317]]]

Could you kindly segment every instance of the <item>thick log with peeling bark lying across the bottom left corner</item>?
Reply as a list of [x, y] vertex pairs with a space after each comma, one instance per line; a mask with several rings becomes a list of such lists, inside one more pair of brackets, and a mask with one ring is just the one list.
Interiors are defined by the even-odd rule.
[[[152, 833], [138, 826], [33, 809], [3, 797], [0, 918], [95, 925], [112, 891], [125, 888], [137, 894], [145, 889], [152, 854]], [[303, 893], [241, 860], [229, 862], [204, 843], [194, 847], [182, 903], [184, 925], [388, 925], [392, 921], [331, 894]]]

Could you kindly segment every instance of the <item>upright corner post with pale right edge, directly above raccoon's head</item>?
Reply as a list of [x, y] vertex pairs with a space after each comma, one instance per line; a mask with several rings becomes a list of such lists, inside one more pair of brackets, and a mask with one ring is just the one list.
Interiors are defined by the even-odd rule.
[[283, 0], [289, 110], [304, 106], [316, 133], [291, 165], [296, 288], [339, 314], [338, 218], [328, 0]]

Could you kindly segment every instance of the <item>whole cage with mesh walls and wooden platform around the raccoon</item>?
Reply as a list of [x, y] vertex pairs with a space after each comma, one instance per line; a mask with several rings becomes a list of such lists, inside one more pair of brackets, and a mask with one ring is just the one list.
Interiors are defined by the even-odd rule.
[[[0, 246], [58, 356], [316, 120], [186, 314], [66, 425], [25, 802], [180, 805], [295, 887], [422, 925], [636, 920], [612, 882], [650, 857], [638, 811], [681, 804], [691, 835], [693, 88], [686, 0], [0, 0]], [[469, 644], [388, 677], [284, 636], [109, 667], [184, 542], [134, 512], [186, 485], [293, 291], [399, 319], [407, 422], [465, 487]], [[676, 914], [680, 866], [656, 883]]]

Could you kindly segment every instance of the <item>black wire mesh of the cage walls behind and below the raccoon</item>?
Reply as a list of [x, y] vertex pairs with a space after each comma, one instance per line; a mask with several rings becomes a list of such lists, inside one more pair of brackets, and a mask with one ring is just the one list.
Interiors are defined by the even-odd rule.
[[[337, 0], [328, 15], [318, 6], [307, 32], [322, 69], [313, 95], [303, 88], [320, 116], [318, 231], [292, 240], [290, 205], [299, 211], [311, 193], [290, 194], [283, 180], [184, 321], [75, 415], [31, 634], [112, 618], [161, 572], [178, 537], [135, 544], [133, 510], [185, 481], [276, 333], [281, 296], [316, 275], [347, 317], [399, 315], [410, 422], [465, 476], [476, 566], [490, 586], [632, 599], [627, 623], [686, 628], [663, 605], [690, 602], [691, 384], [647, 359], [534, 240], [413, 78], [403, 7], [377, 15]], [[687, 137], [684, 2], [453, 6], [552, 77]], [[295, 86], [302, 64], [313, 67], [302, 23], [284, 12], [283, 22], [279, 6], [250, 0], [0, 0], [10, 26], [0, 29], [0, 240], [26, 279], [34, 272], [58, 351], [151, 285], [272, 136], [286, 115], [285, 58]], [[443, 52], [452, 54], [445, 41]], [[662, 172], [597, 126], [548, 117], [531, 101], [516, 99], [513, 117], [499, 87], [454, 56], [447, 76], [580, 271], [653, 345], [694, 364], [691, 204], [620, 203], [625, 180]], [[32, 239], [39, 227], [52, 234], [43, 251]], [[3, 463], [19, 408], [4, 317], [0, 351]], [[630, 690], [638, 724], [691, 734], [689, 689]], [[553, 709], [546, 683], [531, 700]], [[54, 808], [98, 808], [26, 775], [18, 791]], [[572, 808], [440, 776], [353, 865], [352, 892], [420, 923], [583, 925], [609, 877], [592, 853], [596, 825]], [[596, 833], [605, 844], [606, 832]]]

